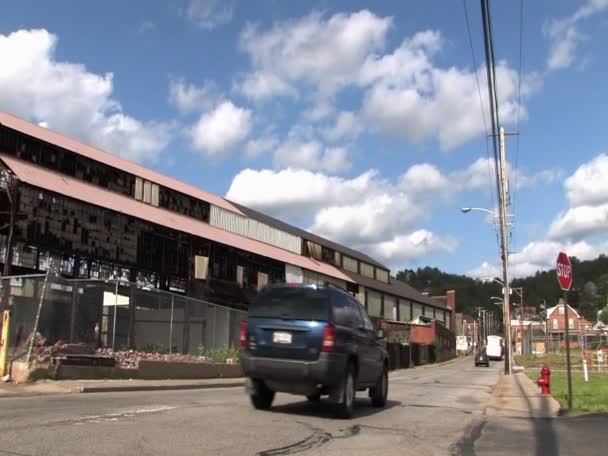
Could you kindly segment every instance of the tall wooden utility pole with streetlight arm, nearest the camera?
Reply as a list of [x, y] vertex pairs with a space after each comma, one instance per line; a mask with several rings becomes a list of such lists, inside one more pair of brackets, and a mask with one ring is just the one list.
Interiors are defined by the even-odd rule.
[[501, 239], [501, 259], [502, 259], [502, 283], [503, 287], [503, 318], [505, 320], [505, 374], [511, 375], [512, 371], [512, 347], [511, 347], [511, 304], [509, 303], [510, 286], [509, 286], [509, 246], [507, 240], [507, 160], [505, 151], [505, 130], [500, 128], [500, 239]]

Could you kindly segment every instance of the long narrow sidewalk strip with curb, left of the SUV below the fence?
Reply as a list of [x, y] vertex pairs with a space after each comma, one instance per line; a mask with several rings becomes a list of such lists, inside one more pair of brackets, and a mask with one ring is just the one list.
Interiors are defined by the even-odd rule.
[[42, 380], [34, 383], [0, 384], [0, 398], [69, 393], [118, 393], [244, 386], [244, 378], [202, 380]]

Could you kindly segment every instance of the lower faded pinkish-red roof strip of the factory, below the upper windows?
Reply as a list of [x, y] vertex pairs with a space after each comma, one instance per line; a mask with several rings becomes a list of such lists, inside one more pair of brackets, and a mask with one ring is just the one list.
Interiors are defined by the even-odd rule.
[[86, 182], [22, 160], [0, 154], [0, 160], [17, 176], [33, 187], [58, 193], [88, 204], [119, 212], [147, 222], [232, 246], [310, 271], [353, 282], [342, 271], [326, 263], [304, 257], [260, 241], [215, 228], [208, 223], [185, 215], [142, 203], [125, 195], [111, 192]]

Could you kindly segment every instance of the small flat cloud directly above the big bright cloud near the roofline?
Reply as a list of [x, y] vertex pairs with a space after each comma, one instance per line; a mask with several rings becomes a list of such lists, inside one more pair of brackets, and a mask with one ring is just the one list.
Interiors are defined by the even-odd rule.
[[338, 173], [350, 168], [348, 150], [343, 147], [324, 148], [317, 141], [288, 140], [274, 154], [278, 168], [295, 168]]

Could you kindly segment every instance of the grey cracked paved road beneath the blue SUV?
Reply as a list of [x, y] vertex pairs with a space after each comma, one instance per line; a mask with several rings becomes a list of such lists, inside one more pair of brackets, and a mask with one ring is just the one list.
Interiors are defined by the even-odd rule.
[[483, 417], [497, 380], [498, 367], [470, 359], [399, 371], [388, 406], [360, 393], [350, 421], [289, 395], [255, 411], [242, 388], [5, 397], [0, 455], [444, 455]]

